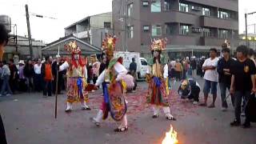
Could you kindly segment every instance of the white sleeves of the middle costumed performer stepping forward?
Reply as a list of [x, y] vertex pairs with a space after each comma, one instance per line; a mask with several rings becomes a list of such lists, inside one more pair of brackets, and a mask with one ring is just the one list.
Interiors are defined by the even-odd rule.
[[[121, 63], [119, 62], [116, 62], [114, 64], [114, 70], [116, 71], [116, 73], [118, 74], [117, 78], [115, 79], [116, 81], [120, 81], [126, 74], [127, 74], [127, 70], [126, 70], [126, 67], [123, 66]], [[106, 70], [103, 70], [102, 71], [102, 74], [100, 74], [98, 76], [98, 79], [97, 79], [97, 82], [96, 82], [96, 86], [99, 86], [102, 84], [102, 82], [104, 82], [105, 80], [105, 72]]]

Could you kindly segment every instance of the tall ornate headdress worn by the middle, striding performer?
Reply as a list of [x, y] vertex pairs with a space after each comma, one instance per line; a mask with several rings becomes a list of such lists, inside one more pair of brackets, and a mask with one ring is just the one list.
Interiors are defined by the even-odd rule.
[[106, 57], [113, 58], [114, 50], [115, 50], [115, 42], [117, 38], [115, 36], [111, 36], [110, 34], [106, 34], [106, 37], [102, 41], [102, 50], [106, 54]]

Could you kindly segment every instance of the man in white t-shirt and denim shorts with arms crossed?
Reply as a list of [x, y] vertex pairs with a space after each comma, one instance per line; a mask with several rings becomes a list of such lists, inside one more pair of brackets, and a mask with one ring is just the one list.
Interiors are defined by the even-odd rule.
[[213, 94], [213, 102], [208, 106], [209, 108], [215, 107], [215, 100], [217, 98], [217, 84], [218, 84], [218, 72], [216, 70], [218, 66], [217, 50], [215, 48], [210, 49], [210, 58], [207, 58], [202, 65], [202, 70], [205, 71], [204, 79], [205, 86], [203, 89], [204, 102], [200, 106], [207, 106], [208, 94]]

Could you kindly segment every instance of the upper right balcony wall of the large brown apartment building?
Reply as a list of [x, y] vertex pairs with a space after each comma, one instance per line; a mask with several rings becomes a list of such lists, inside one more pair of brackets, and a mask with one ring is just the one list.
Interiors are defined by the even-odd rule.
[[238, 30], [238, 21], [233, 19], [221, 19], [208, 16], [201, 16], [202, 27], [214, 27], [227, 30]]

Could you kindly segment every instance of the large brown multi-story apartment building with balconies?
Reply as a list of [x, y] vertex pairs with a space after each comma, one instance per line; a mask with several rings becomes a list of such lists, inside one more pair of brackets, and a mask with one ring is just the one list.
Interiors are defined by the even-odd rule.
[[112, 14], [121, 50], [149, 53], [152, 38], [169, 39], [170, 57], [238, 46], [238, 0], [113, 0]]

